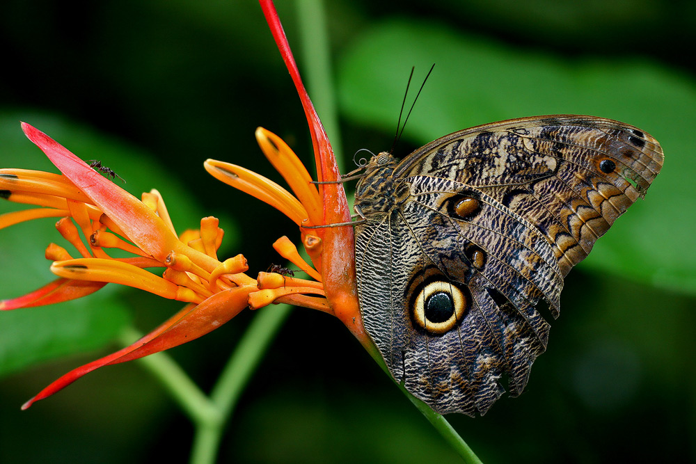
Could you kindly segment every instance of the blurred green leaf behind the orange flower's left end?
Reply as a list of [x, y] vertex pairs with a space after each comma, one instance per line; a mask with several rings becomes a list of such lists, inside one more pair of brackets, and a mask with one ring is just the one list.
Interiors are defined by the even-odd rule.
[[[102, 161], [126, 179], [126, 184], [119, 179], [115, 182], [134, 195], [156, 187], [168, 203], [180, 232], [186, 227], [198, 227], [199, 218], [205, 215], [193, 204], [186, 188], [168, 175], [164, 166], [153, 162], [150, 155], [52, 115], [31, 111], [0, 113], [1, 167], [58, 172], [22, 134], [19, 120], [45, 131], [83, 159]], [[0, 213], [24, 209], [26, 205], [3, 202], [1, 208]], [[56, 279], [44, 257], [44, 249], [50, 242], [56, 241], [77, 255], [56, 232], [55, 221], [53, 218], [31, 221], [0, 230], [0, 266], [4, 270], [0, 298], [21, 296]], [[235, 233], [230, 227], [228, 232], [232, 232], [227, 235], [229, 243]], [[127, 305], [116, 295], [118, 289], [116, 285], [107, 285], [96, 294], [76, 301], [0, 312], [0, 375], [112, 342], [130, 319]]]

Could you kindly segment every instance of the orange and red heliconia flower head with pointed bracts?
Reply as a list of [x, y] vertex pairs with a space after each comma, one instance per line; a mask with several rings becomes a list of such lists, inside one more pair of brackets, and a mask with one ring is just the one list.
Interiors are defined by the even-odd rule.
[[[309, 122], [318, 180], [337, 181], [340, 175], [331, 145], [302, 85], [273, 3], [260, 3]], [[299, 225], [303, 246], [314, 267], [303, 261], [287, 237], [276, 241], [274, 248], [314, 281], [277, 273], [259, 273], [257, 279], [249, 277], [242, 255], [219, 261], [217, 250], [223, 231], [216, 218], [203, 218], [200, 230], [187, 230], [177, 236], [159, 192], [143, 193], [139, 200], [38, 129], [26, 123], [22, 123], [22, 129], [62, 175], [0, 170], [3, 198], [40, 207], [3, 214], [0, 228], [35, 218], [61, 218], [56, 223], [58, 232], [77, 248], [81, 257], [74, 258], [64, 248], [50, 244], [46, 257], [53, 261], [51, 270], [58, 280], [26, 296], [0, 301], [0, 310], [80, 298], [107, 282], [188, 303], [134, 344], [58, 378], [22, 408], [29, 408], [98, 367], [190, 342], [226, 323], [247, 306], [258, 309], [270, 303], [290, 303], [329, 312], [343, 321], [368, 351], [376, 353], [358, 311], [352, 227], [308, 228], [350, 221], [342, 184], [313, 184], [301, 161], [278, 136], [262, 128], [256, 132], [262, 151], [294, 195], [239, 166], [207, 160], [205, 168], [217, 179], [276, 207]], [[113, 248], [131, 253], [132, 257], [111, 257], [109, 250]], [[157, 275], [145, 268], [164, 271]]]

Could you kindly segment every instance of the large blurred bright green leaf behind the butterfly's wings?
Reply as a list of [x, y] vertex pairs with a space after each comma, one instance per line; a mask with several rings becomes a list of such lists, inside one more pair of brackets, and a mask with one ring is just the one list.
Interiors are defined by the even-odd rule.
[[696, 248], [686, 246], [696, 226], [689, 201], [696, 178], [693, 81], [639, 58], [571, 60], [441, 24], [395, 20], [374, 26], [342, 57], [342, 111], [360, 125], [393, 132], [411, 66], [417, 87], [432, 63], [404, 131], [418, 144], [496, 120], [559, 113], [622, 120], [661, 141], [665, 167], [647, 200], [617, 221], [583, 265], [696, 293]]

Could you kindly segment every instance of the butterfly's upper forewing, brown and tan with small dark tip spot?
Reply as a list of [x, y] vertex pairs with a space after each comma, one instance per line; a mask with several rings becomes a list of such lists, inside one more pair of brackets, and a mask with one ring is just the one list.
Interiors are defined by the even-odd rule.
[[536, 225], [562, 275], [642, 197], [662, 168], [659, 143], [637, 127], [592, 116], [495, 122], [425, 145], [394, 177], [456, 179]]

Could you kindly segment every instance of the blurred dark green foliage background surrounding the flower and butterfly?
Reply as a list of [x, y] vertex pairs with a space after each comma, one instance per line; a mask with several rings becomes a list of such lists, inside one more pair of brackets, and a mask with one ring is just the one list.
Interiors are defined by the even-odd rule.
[[[293, 3], [278, 9], [297, 47]], [[485, 417], [448, 419], [484, 462], [694, 461], [694, 3], [336, 0], [326, 8], [347, 154], [389, 148], [411, 66], [419, 83], [433, 62], [401, 154], [464, 127], [544, 113], [624, 120], [661, 141], [665, 168], [646, 200], [567, 278], [563, 316], [526, 392]], [[0, 165], [54, 170], [23, 138], [26, 120], [116, 170], [131, 193], [159, 189], [177, 228], [220, 217], [221, 255], [244, 253], [251, 272], [278, 263], [270, 245], [295, 237], [294, 225], [201, 166], [212, 157], [279, 181], [255, 144], [257, 125], [311, 163], [299, 100], [254, 1], [6, 0], [0, 43]], [[42, 255], [58, 240], [51, 221], [1, 230], [0, 298], [52, 280]], [[135, 363], [19, 412], [57, 376], [113, 351], [109, 341], [130, 319], [149, 330], [179, 307], [111, 287], [0, 314], [0, 462], [187, 456], [191, 426]], [[205, 389], [250, 317], [171, 353]], [[26, 369], [69, 353], [84, 354]], [[220, 461], [436, 459], [457, 460], [345, 328], [296, 311], [244, 394]]]

